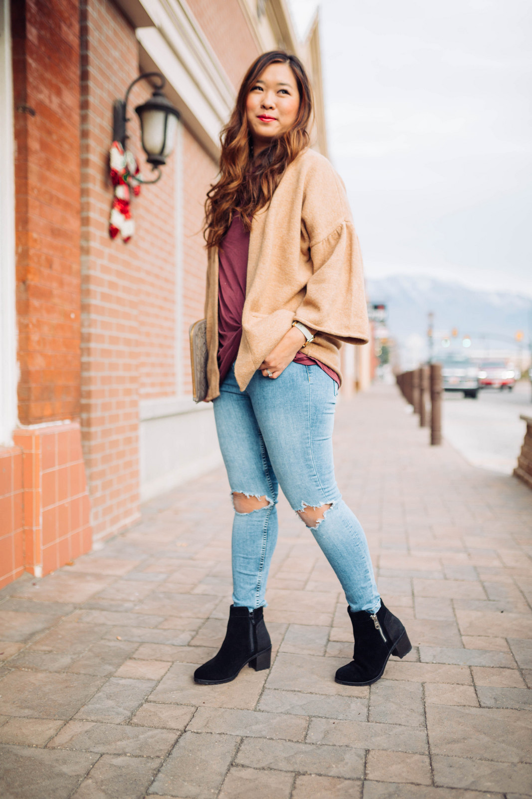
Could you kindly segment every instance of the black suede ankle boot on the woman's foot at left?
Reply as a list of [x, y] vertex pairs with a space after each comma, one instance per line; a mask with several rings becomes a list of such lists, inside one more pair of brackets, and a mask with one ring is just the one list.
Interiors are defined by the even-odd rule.
[[270, 658], [271, 641], [262, 607], [248, 610], [231, 605], [223, 644], [214, 658], [195, 670], [194, 682], [203, 686], [231, 682], [246, 663], [255, 671], [269, 669]]

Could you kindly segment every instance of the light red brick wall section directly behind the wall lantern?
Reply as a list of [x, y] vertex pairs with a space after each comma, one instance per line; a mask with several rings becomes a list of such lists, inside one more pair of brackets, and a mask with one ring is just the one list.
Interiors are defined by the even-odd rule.
[[[138, 43], [112, 2], [83, 0], [81, 49], [81, 423], [98, 536], [138, 515], [139, 400], [175, 394], [175, 168], [171, 157], [162, 180], [133, 199], [132, 240], [111, 240], [112, 102], [139, 74]], [[133, 109], [150, 95], [141, 81], [128, 110], [145, 177]]]

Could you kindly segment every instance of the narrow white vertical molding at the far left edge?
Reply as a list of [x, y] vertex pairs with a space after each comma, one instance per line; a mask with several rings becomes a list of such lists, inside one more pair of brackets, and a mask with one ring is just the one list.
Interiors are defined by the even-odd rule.
[[13, 73], [9, 0], [0, 0], [0, 446], [17, 426], [17, 312], [15, 305], [15, 189]]

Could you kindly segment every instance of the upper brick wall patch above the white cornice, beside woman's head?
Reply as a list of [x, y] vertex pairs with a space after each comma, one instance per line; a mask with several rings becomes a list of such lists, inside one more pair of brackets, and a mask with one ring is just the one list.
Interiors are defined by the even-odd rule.
[[238, 0], [188, 0], [192, 14], [238, 89], [246, 70], [260, 54]]

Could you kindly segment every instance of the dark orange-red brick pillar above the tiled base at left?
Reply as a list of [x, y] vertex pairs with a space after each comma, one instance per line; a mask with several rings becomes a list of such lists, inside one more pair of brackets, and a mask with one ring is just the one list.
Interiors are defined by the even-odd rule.
[[80, 400], [79, 10], [13, 0], [18, 414], [70, 419]]

